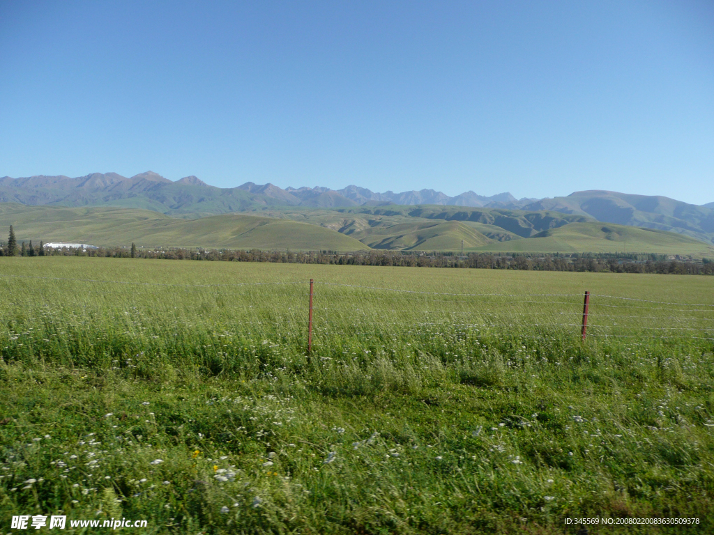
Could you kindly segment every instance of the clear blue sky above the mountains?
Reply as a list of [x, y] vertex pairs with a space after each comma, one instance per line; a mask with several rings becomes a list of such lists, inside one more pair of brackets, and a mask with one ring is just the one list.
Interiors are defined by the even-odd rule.
[[0, 0], [0, 176], [714, 201], [711, 1]]

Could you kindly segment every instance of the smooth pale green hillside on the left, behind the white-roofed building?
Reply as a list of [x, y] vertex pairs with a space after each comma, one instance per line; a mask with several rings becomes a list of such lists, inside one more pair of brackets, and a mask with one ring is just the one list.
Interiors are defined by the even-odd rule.
[[0, 228], [18, 240], [147, 247], [227, 247], [291, 250], [367, 249], [328, 228], [240, 213], [186, 220], [149, 210], [0, 205]]

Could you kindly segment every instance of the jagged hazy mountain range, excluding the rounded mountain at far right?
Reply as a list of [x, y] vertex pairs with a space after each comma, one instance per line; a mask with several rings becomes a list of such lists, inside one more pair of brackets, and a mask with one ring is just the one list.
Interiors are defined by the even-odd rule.
[[[142, 199], [143, 198], [143, 199]], [[236, 188], [216, 188], [196, 176], [176, 182], [146, 171], [131, 178], [117, 173], [91, 173], [70, 178], [64, 175], [36, 175], [26, 178], [0, 178], [0, 202], [27, 205], [126, 205], [126, 200], [155, 205], [162, 213], [228, 213], [253, 206], [307, 206], [331, 208], [358, 205], [456, 205], [481, 208], [515, 208], [538, 199], [516, 199], [511, 193], [486, 197], [473, 191], [449, 197], [436, 190], [375, 193], [356, 185], [341, 190], [316, 188], [278, 188], [271, 183], [246, 182]], [[161, 208], [159, 209], [159, 205]], [[138, 207], [137, 207], [138, 208]], [[149, 207], [147, 207], [149, 208]], [[198, 210], [196, 210], [196, 208]], [[204, 210], [207, 208], [208, 210]]]

